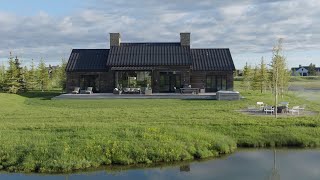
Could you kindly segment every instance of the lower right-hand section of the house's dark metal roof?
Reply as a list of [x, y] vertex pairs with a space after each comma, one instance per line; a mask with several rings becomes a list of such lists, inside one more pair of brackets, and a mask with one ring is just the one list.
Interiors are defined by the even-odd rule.
[[191, 49], [192, 69], [195, 71], [234, 71], [229, 49]]

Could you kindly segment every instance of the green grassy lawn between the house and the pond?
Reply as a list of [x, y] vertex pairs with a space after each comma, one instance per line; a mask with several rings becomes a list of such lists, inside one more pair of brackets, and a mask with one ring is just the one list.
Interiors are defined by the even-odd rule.
[[[315, 116], [250, 116], [237, 110], [271, 94], [241, 101], [50, 100], [56, 93], [0, 93], [0, 170], [66, 172], [109, 164], [181, 161], [231, 153], [236, 147], [320, 146]], [[320, 100], [320, 96], [319, 96]]]

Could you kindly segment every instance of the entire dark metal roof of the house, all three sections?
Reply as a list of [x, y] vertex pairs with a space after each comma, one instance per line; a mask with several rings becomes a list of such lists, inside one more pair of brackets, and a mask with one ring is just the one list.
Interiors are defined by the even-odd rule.
[[180, 43], [121, 43], [111, 49], [73, 49], [66, 71], [152, 70], [192, 66], [194, 71], [234, 71], [229, 49], [190, 49]]

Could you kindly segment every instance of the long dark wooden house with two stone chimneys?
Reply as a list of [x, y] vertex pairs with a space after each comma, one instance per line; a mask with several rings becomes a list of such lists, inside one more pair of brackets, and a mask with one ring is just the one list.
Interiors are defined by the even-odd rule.
[[155, 93], [182, 87], [206, 92], [233, 90], [235, 66], [230, 50], [190, 48], [190, 33], [180, 42], [123, 43], [110, 33], [110, 49], [73, 49], [67, 63], [67, 91], [93, 87], [110, 93], [114, 88], [151, 87]]

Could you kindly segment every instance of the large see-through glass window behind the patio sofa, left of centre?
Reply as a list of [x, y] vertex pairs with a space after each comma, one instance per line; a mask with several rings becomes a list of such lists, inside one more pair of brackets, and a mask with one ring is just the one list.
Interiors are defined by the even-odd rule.
[[115, 85], [118, 88], [151, 87], [150, 71], [117, 71]]

